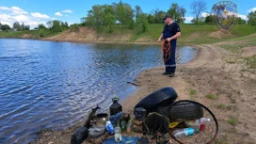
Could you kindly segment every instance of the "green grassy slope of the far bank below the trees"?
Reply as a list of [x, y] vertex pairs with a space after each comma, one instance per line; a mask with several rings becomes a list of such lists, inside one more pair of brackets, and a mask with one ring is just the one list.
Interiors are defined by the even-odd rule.
[[[226, 49], [240, 49], [240, 47], [255, 45], [255, 37], [248, 37], [248, 35], [255, 33], [256, 26], [242, 24], [237, 25], [229, 35], [218, 33], [219, 37], [212, 36], [211, 34], [217, 32], [216, 26], [213, 24], [180, 24], [182, 36], [178, 40], [178, 45], [194, 45], [194, 44], [207, 44], [216, 43], [218, 41], [246, 41], [241, 44], [230, 46], [222, 45]], [[113, 32], [109, 33], [109, 27], [89, 27], [95, 30], [97, 38], [104, 41], [121, 40], [124, 42], [155, 42], [161, 35], [164, 24], [149, 24], [146, 32], [136, 26], [131, 29], [127, 25], [113, 25]], [[50, 30], [30, 30], [30, 31], [10, 31], [0, 32], [0, 38], [21, 38], [24, 34], [30, 34], [31, 38], [50, 37], [58, 33], [53, 33]]]

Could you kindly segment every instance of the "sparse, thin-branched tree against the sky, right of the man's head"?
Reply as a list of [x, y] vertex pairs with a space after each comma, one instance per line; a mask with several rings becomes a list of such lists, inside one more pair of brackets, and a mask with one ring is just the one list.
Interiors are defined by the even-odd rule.
[[206, 2], [202, 0], [198, 0], [198, 1], [194, 0], [190, 4], [190, 8], [192, 9], [192, 13], [195, 14], [195, 17], [196, 17], [195, 24], [198, 24], [200, 19], [200, 13], [206, 10]]

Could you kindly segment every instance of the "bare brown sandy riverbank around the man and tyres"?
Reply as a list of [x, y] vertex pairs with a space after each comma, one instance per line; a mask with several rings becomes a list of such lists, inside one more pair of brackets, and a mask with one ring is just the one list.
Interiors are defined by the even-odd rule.
[[[256, 141], [256, 74], [243, 71], [246, 63], [227, 62], [230, 58], [238, 58], [218, 48], [217, 44], [197, 46], [198, 56], [177, 68], [176, 76], [169, 78], [162, 75], [164, 68], [141, 72], [136, 77], [140, 87], [123, 101], [123, 110], [132, 112], [134, 105], [153, 91], [173, 87], [179, 100], [189, 99], [210, 107], [219, 121], [220, 133], [218, 139], [222, 143], [254, 143]], [[247, 54], [239, 55], [244, 56]], [[190, 90], [196, 91], [191, 95]], [[205, 96], [209, 93], [217, 96], [211, 100]], [[219, 106], [222, 105], [222, 106]], [[235, 119], [235, 123], [228, 122]], [[70, 143], [70, 138], [76, 127], [65, 131], [44, 132], [33, 143]]]

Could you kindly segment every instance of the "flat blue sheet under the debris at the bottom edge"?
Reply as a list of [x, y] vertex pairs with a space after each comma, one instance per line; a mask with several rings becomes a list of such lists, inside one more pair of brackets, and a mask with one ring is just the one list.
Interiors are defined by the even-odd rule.
[[[136, 144], [140, 137], [135, 136], [121, 136], [121, 142], [117, 144]], [[115, 144], [115, 137], [105, 139], [103, 144]]]

